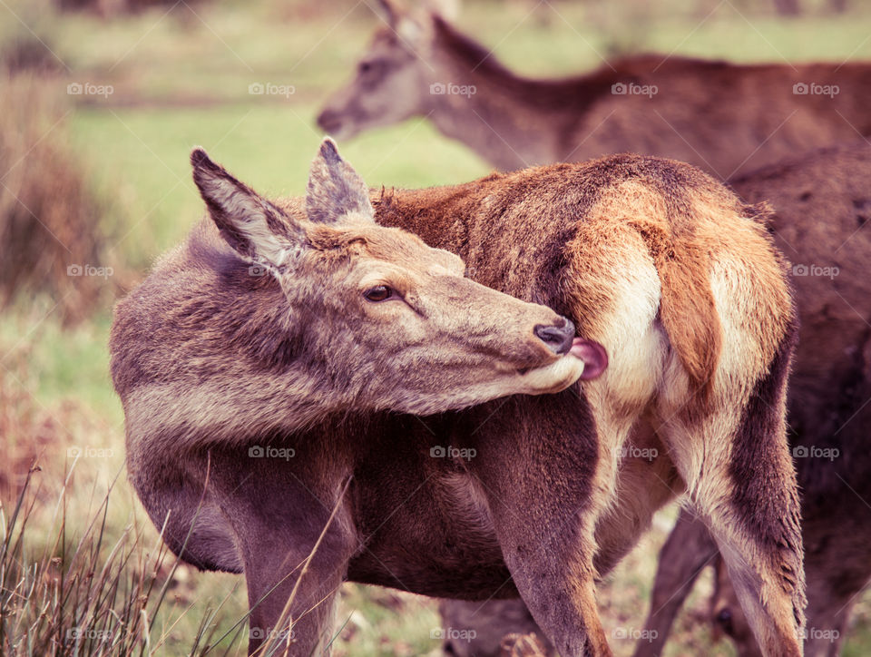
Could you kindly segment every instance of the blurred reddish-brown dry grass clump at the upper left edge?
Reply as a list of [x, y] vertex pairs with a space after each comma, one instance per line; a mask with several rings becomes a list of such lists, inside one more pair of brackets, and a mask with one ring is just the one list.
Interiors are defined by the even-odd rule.
[[47, 292], [74, 322], [97, 305], [112, 269], [102, 260], [103, 209], [65, 142], [61, 88], [52, 77], [0, 74], [0, 307]]

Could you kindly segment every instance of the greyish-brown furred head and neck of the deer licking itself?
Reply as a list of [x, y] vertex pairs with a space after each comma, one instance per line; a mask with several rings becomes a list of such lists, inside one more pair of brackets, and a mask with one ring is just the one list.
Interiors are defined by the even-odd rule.
[[[537, 332], [573, 331], [564, 319], [464, 279], [454, 255], [377, 226], [362, 179], [345, 219], [337, 213], [347, 189], [329, 184], [323, 209], [307, 204], [320, 222], [292, 221], [205, 153], [194, 152], [192, 162], [223, 240], [211, 223], [201, 225], [119, 307], [115, 333], [123, 340], [113, 370], [136, 444], [166, 440], [158, 444], [175, 451], [247, 444], [264, 431], [294, 432], [350, 411], [432, 414], [535, 392], [526, 381], [537, 376], [539, 393], [577, 378], [546, 378], [546, 368], [566, 358]], [[360, 214], [362, 203], [369, 216]], [[380, 283], [403, 301], [362, 299], [360, 286]], [[160, 316], [150, 310], [153, 299]], [[221, 345], [233, 358], [212, 358]], [[331, 364], [335, 352], [345, 363]], [[434, 365], [437, 377], [426, 371]], [[181, 394], [187, 389], [194, 394]], [[238, 407], [212, 407], [212, 394]]]

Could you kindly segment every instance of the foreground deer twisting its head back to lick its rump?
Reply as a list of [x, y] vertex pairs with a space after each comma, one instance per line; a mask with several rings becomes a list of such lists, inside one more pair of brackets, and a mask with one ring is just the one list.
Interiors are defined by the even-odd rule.
[[685, 495], [765, 653], [801, 654], [765, 208], [638, 155], [367, 190], [326, 141], [273, 201], [191, 162], [209, 216], [117, 305], [112, 377], [132, 485], [181, 560], [244, 574], [250, 653], [328, 652], [352, 581], [520, 596], [609, 655], [596, 579]]

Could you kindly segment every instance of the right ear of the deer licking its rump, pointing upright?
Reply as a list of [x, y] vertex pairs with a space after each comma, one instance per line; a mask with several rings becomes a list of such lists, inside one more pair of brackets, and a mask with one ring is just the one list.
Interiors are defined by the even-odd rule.
[[308, 221], [340, 223], [349, 216], [375, 221], [369, 189], [360, 174], [342, 160], [327, 137], [311, 162], [306, 193]]

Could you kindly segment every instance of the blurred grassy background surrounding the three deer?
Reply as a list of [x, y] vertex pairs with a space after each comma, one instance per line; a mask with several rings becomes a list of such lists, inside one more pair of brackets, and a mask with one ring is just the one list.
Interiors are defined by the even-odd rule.
[[[455, 24], [536, 76], [649, 52], [871, 59], [859, 0], [466, 0]], [[303, 192], [318, 108], [379, 25], [373, 0], [0, 0], [0, 653], [244, 653], [242, 579], [176, 567], [126, 484], [113, 302], [201, 218], [192, 146], [258, 191]], [[490, 171], [421, 117], [340, 146], [371, 186]], [[643, 627], [674, 517], [602, 587], [606, 628]], [[734, 653], [702, 622], [704, 577], [666, 654]], [[334, 654], [438, 654], [435, 607], [347, 585]], [[844, 654], [871, 654], [868, 596]]]

